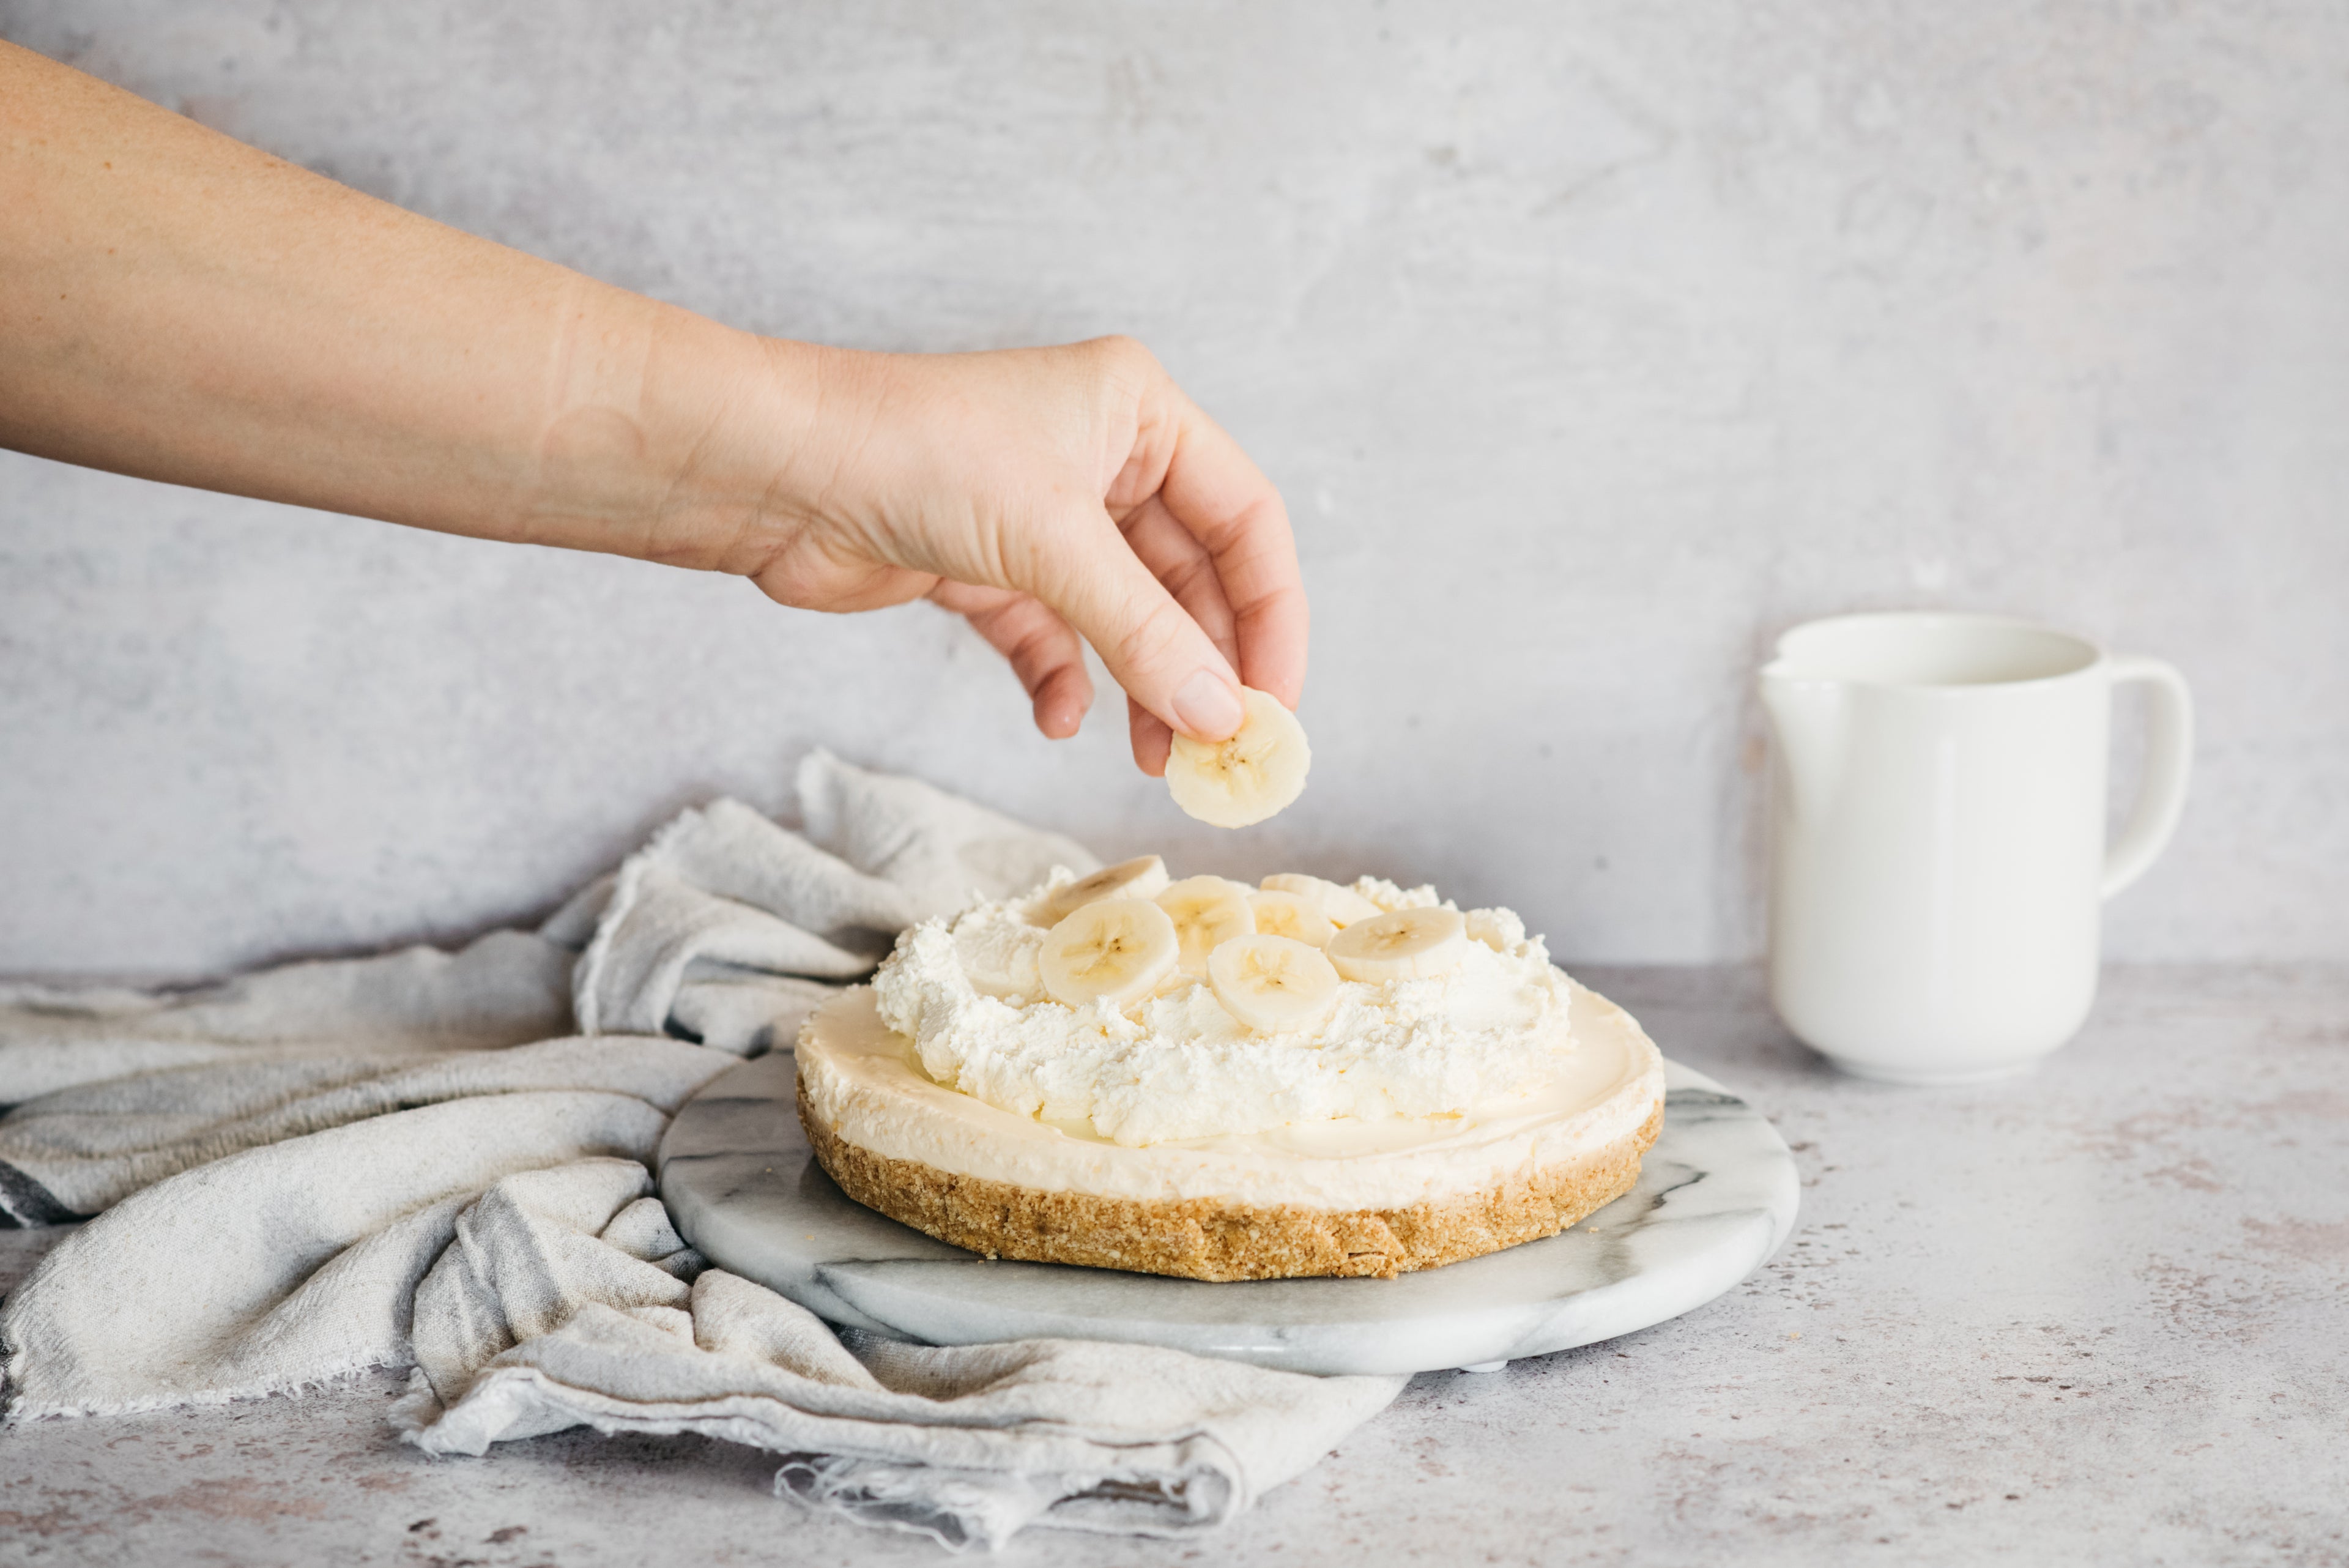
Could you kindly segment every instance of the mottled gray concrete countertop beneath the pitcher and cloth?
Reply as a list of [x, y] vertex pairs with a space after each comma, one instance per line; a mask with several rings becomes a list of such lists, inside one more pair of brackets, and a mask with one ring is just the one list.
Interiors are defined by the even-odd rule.
[[[2349, 969], [2112, 971], [2037, 1077], [1914, 1091], [1750, 971], [1579, 971], [1802, 1161], [1778, 1258], [1647, 1333], [1423, 1375], [1191, 1542], [1019, 1563], [2349, 1559]], [[0, 1232], [0, 1286], [59, 1232]], [[390, 1441], [378, 1373], [0, 1434], [0, 1563], [926, 1563], [705, 1439]]]

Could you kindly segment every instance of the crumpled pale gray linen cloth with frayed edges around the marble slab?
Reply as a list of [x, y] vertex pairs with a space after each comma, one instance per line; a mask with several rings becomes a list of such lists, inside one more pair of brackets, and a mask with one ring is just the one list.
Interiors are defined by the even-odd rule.
[[9, 1418], [413, 1366], [397, 1422], [430, 1453], [707, 1432], [789, 1455], [778, 1490], [810, 1507], [994, 1547], [1214, 1526], [1384, 1408], [1402, 1380], [839, 1335], [684, 1246], [646, 1166], [700, 1084], [904, 924], [1095, 865], [827, 752], [799, 795], [801, 832], [688, 811], [456, 954], [0, 987], [0, 1218], [96, 1215], [0, 1309]]

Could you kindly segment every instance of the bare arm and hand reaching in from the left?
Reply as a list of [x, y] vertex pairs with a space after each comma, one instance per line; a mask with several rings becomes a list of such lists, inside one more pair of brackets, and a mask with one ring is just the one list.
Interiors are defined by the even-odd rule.
[[402, 212], [0, 45], [0, 444], [451, 534], [933, 597], [1048, 736], [1294, 705], [1280, 496], [1139, 346], [763, 339]]

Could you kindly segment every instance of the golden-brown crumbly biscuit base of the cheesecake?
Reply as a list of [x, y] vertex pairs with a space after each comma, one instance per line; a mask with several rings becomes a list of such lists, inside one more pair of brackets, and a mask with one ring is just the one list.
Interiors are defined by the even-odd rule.
[[951, 1175], [846, 1143], [808, 1112], [806, 1081], [799, 1086], [799, 1121], [808, 1128], [815, 1161], [841, 1192], [900, 1225], [987, 1258], [1081, 1262], [1179, 1279], [1393, 1279], [1555, 1237], [1616, 1201], [1640, 1180], [1640, 1157], [1663, 1128], [1663, 1103], [1635, 1133], [1586, 1159], [1543, 1166], [1532, 1178], [1510, 1178], [1487, 1192], [1412, 1208], [1355, 1211], [1224, 1199], [1111, 1199]]

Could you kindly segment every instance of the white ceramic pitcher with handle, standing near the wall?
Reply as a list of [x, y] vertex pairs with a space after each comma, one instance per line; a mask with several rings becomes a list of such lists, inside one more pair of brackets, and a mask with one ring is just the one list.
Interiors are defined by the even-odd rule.
[[[2112, 689], [2154, 693], [2147, 776], [2105, 846]], [[2030, 1067], [2095, 999], [2100, 905], [2178, 827], [2187, 684], [2156, 658], [2004, 616], [1797, 625], [1762, 670], [1778, 738], [1769, 983], [1849, 1072], [1959, 1084]]]

